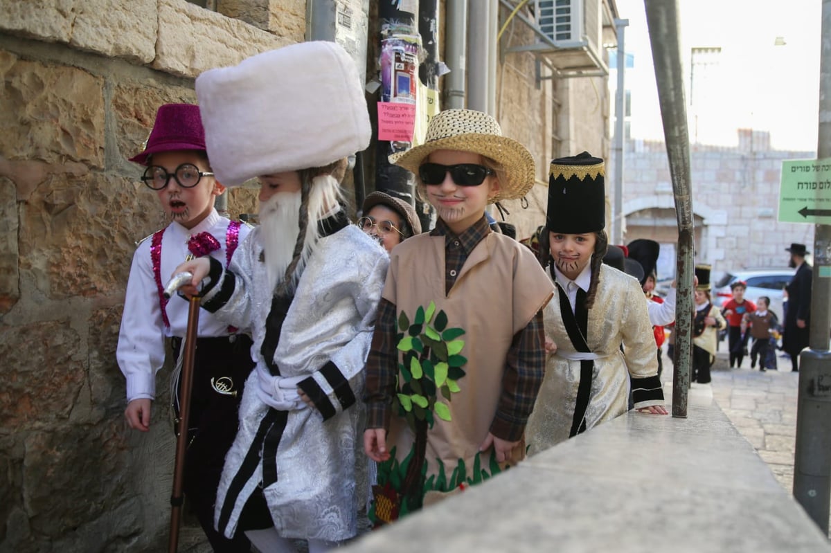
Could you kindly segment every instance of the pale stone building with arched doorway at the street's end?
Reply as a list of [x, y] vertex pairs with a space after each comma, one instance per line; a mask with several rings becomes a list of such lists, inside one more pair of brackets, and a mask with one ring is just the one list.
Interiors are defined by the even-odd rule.
[[[777, 220], [782, 161], [816, 154], [770, 149], [767, 133], [738, 134], [733, 148], [691, 144], [696, 262], [711, 263], [714, 272], [787, 267], [784, 248], [791, 242], [810, 248], [814, 225]], [[678, 228], [665, 144], [630, 140], [623, 159], [624, 242], [661, 242], [659, 278], [674, 276]]]

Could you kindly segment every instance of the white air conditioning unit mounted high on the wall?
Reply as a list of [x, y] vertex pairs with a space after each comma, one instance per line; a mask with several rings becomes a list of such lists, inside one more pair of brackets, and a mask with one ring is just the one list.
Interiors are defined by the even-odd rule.
[[604, 66], [602, 51], [603, 0], [534, 0], [539, 32], [549, 40], [548, 60], [566, 71]]

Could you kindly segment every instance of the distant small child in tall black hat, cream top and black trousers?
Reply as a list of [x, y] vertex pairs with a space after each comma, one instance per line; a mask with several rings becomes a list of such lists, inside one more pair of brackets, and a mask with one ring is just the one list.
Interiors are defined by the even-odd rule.
[[715, 361], [718, 331], [724, 330], [727, 321], [719, 308], [710, 301], [709, 265], [696, 265], [696, 315], [692, 324], [692, 374], [691, 382], [710, 382], [710, 367]]

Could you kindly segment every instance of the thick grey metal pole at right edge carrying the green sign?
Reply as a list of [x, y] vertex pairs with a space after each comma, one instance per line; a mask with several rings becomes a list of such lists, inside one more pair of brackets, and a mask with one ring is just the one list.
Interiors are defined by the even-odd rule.
[[[819, 58], [817, 159], [831, 158], [831, 0], [824, 0]], [[827, 536], [831, 501], [831, 226], [814, 228], [809, 347], [799, 355], [794, 498]]]

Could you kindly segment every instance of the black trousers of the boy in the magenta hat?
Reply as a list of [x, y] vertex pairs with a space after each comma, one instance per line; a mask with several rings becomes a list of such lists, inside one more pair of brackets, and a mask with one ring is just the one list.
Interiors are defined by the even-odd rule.
[[[170, 340], [174, 359], [182, 340]], [[191, 390], [188, 437], [184, 456], [184, 497], [214, 551], [246, 553], [251, 544], [243, 532], [229, 540], [214, 530], [214, 504], [219, 477], [238, 428], [243, 385], [253, 369], [251, 339], [246, 335], [199, 338], [194, 356], [194, 386]], [[181, 379], [177, 399], [181, 398]], [[175, 413], [179, 418], [179, 402]]]

